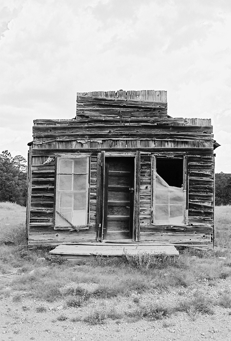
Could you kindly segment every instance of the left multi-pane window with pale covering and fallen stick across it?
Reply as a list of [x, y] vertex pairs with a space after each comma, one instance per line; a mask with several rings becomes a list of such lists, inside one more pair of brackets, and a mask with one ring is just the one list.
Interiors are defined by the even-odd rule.
[[88, 212], [89, 157], [58, 158], [55, 228], [88, 228]]

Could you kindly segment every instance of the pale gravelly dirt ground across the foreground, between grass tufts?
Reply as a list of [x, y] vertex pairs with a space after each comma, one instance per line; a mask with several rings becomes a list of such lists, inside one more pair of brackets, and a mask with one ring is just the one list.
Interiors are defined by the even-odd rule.
[[[111, 299], [90, 299], [80, 308], [68, 308], [65, 301], [43, 302], [27, 297], [27, 293], [16, 292], [10, 282], [17, 274], [0, 278], [5, 289], [1, 295], [0, 341], [25, 340], [222, 340], [231, 341], [231, 309], [216, 305], [220, 293], [231, 290], [230, 278], [221, 279], [215, 286], [207, 282], [197, 283], [189, 288], [161, 292], [152, 290], [130, 297]], [[82, 283], [86, 285], [87, 283]], [[89, 289], [89, 288], [88, 288]], [[149, 321], [147, 318], [107, 319], [103, 324], [90, 325], [73, 318], [86, 316], [98, 308], [135, 310], [139, 304], [158, 302], [174, 306], [176, 302], [192, 297], [198, 292], [213, 301], [214, 313], [188, 314], [176, 312], [161, 320]], [[17, 295], [18, 294], [18, 295]], [[39, 307], [44, 307], [38, 312]], [[60, 316], [63, 321], [60, 321]], [[61, 320], [62, 320], [61, 317]], [[57, 320], [57, 318], [59, 320]], [[66, 319], [66, 320], [65, 320]]]

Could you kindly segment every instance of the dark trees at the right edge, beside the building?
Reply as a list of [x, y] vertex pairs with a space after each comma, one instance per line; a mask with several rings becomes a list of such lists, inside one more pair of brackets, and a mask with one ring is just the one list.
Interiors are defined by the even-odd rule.
[[231, 174], [215, 174], [215, 205], [231, 205]]

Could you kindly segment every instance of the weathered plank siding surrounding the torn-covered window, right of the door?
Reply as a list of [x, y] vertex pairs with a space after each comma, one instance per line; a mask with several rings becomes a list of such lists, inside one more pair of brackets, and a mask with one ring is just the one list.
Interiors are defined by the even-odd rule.
[[[188, 157], [188, 224], [157, 226], [151, 223], [151, 159], [141, 155], [140, 239], [175, 243], [211, 242], [213, 234], [213, 157]], [[186, 235], [187, 234], [187, 235]]]

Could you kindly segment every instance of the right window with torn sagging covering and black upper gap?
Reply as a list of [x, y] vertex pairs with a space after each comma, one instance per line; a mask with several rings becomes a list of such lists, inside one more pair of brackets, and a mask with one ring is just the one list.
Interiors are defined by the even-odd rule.
[[153, 169], [153, 222], [185, 225], [186, 190], [183, 159], [155, 158]]

